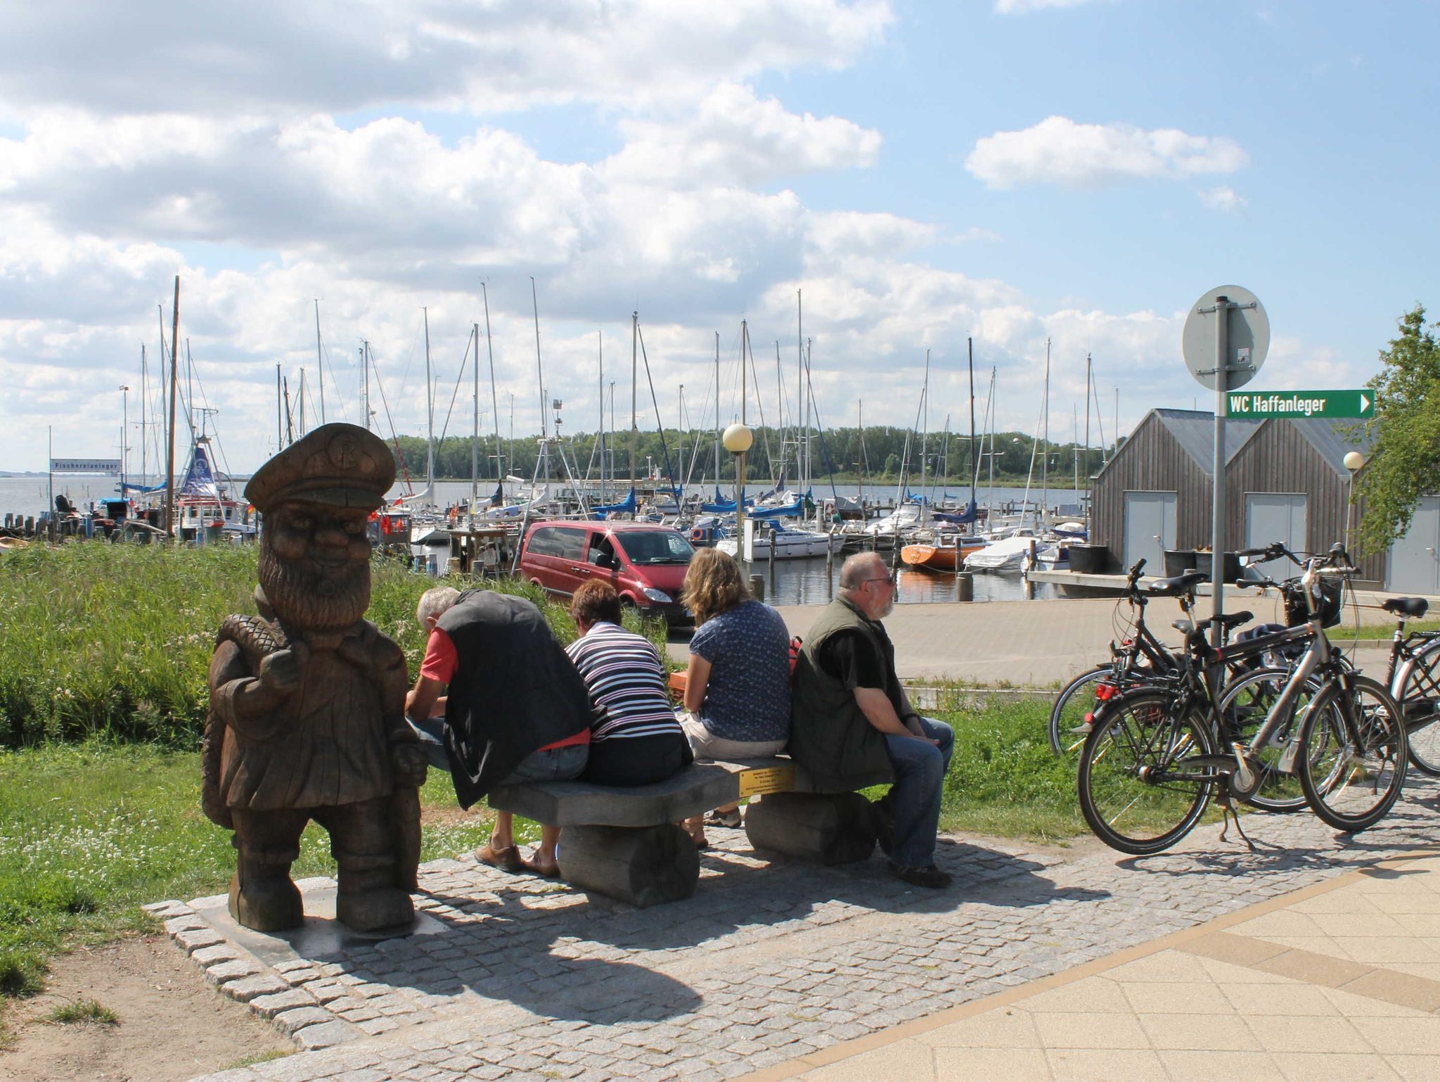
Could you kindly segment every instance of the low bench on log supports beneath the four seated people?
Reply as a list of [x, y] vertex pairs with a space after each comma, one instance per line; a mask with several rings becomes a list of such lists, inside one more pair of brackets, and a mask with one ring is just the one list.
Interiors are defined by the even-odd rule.
[[[884, 777], [861, 778], [878, 785]], [[744, 797], [744, 831], [756, 849], [844, 864], [876, 846], [870, 801], [858, 792], [821, 794], [792, 759], [694, 762], [654, 785], [619, 788], [585, 781], [501, 785], [490, 807], [564, 827], [557, 863], [566, 882], [636, 906], [690, 898], [700, 854], [681, 820]]]

